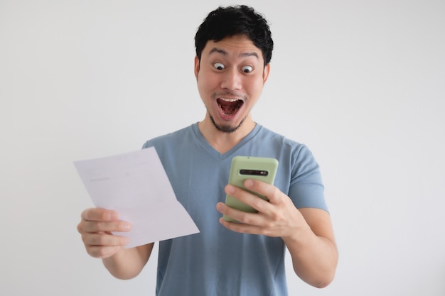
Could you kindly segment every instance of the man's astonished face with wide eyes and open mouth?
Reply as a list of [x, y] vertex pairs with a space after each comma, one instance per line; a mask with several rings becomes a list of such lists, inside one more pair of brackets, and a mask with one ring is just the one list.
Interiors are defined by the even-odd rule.
[[245, 35], [209, 40], [201, 59], [195, 57], [200, 97], [218, 131], [231, 133], [241, 126], [268, 75], [262, 51]]

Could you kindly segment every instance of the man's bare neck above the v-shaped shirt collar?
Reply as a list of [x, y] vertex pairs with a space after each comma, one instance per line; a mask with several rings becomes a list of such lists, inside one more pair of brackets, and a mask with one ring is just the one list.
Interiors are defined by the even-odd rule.
[[237, 128], [236, 131], [232, 133], [227, 133], [224, 131], [219, 131], [218, 128], [210, 120], [208, 115], [205, 116], [203, 121], [198, 123], [198, 128], [203, 134], [204, 138], [210, 146], [215, 148], [219, 153], [226, 153], [228, 150], [232, 149], [240, 143], [240, 141], [245, 138], [256, 126], [255, 122], [252, 120], [250, 114], [247, 116], [242, 125]]

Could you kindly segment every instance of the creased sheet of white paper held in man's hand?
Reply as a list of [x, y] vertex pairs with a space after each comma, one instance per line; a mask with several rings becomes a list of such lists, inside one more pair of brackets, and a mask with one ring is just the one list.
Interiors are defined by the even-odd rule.
[[199, 232], [178, 202], [155, 148], [74, 163], [96, 207], [112, 209], [132, 230], [126, 248]]

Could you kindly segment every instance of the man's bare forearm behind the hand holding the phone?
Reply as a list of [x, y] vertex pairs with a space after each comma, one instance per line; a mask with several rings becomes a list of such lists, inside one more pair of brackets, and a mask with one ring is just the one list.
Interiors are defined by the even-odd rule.
[[284, 239], [296, 275], [314, 287], [326, 287], [336, 273], [338, 252], [330, 239], [316, 236], [308, 228], [293, 238]]

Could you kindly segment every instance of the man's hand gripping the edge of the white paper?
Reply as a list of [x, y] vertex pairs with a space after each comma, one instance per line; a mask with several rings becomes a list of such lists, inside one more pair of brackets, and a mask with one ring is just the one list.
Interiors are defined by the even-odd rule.
[[77, 231], [82, 235], [87, 253], [95, 258], [109, 258], [129, 243], [125, 236], [114, 236], [112, 231], [127, 232], [131, 224], [120, 221], [118, 213], [107, 209], [85, 209]]

